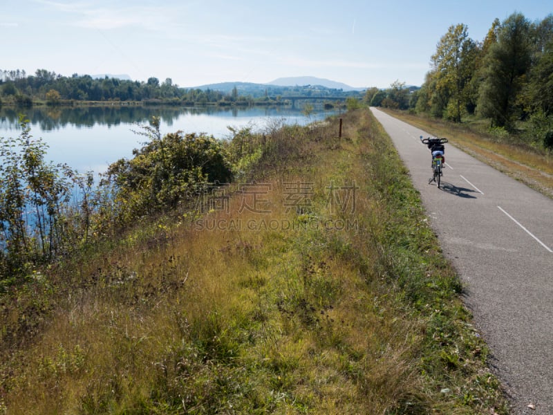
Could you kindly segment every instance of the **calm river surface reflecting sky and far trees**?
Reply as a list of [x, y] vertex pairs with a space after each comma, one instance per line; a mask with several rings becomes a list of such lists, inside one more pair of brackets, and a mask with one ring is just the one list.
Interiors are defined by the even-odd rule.
[[[21, 133], [22, 110], [0, 109], [0, 137], [15, 138]], [[73, 109], [26, 109], [31, 135], [49, 146], [47, 160], [67, 163], [79, 172], [104, 172], [119, 158], [131, 158], [142, 147], [145, 137], [135, 131], [147, 125], [152, 116], [160, 116], [161, 133], [178, 130], [205, 132], [218, 139], [231, 136], [227, 127], [251, 126], [265, 131], [279, 122], [306, 124], [334, 115], [337, 111], [317, 110], [308, 118], [301, 109], [252, 107], [248, 109], [175, 108], [175, 107], [90, 107]]]

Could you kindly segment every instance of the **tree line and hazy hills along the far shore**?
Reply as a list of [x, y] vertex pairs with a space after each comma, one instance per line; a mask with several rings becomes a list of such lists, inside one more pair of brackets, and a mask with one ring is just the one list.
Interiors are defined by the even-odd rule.
[[35, 75], [25, 71], [0, 69], [0, 105], [13, 104], [30, 107], [37, 102], [58, 105], [69, 102], [142, 102], [163, 104], [220, 104], [252, 105], [282, 104], [286, 95], [321, 97], [322, 100], [346, 98], [352, 95], [362, 97], [359, 91], [342, 91], [324, 86], [275, 86], [246, 82], [227, 82], [207, 88], [182, 88], [167, 78], [160, 82], [149, 77], [147, 82], [121, 80], [105, 75], [62, 76], [55, 72], [39, 69]]

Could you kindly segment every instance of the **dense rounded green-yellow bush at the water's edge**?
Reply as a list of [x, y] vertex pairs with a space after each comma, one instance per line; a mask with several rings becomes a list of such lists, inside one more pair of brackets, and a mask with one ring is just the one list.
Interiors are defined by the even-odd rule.
[[142, 133], [151, 138], [109, 166], [104, 185], [112, 185], [115, 202], [126, 219], [176, 208], [209, 183], [227, 183], [232, 171], [221, 142], [204, 133], [169, 133], [160, 138], [159, 119]]

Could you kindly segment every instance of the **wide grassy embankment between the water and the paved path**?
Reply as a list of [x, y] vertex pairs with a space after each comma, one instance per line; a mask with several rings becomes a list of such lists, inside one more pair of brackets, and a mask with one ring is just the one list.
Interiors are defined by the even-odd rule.
[[0, 413], [506, 413], [391, 141], [336, 136], [272, 131], [259, 187], [4, 299]]

